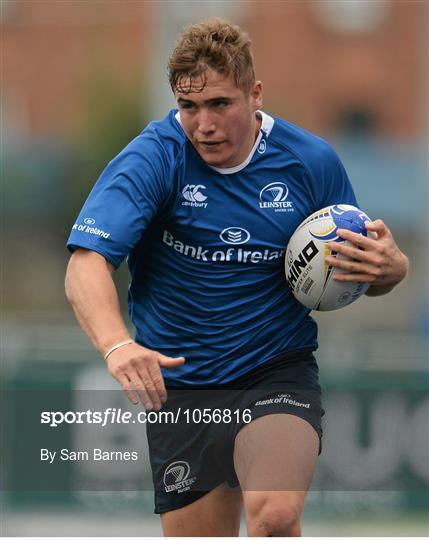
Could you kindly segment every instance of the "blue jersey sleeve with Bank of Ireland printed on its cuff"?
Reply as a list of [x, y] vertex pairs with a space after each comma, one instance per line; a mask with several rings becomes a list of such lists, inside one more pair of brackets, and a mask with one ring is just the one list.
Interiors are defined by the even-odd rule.
[[72, 227], [68, 249], [96, 251], [118, 268], [168, 198], [169, 169], [156, 140], [144, 134], [134, 139], [97, 180]]

